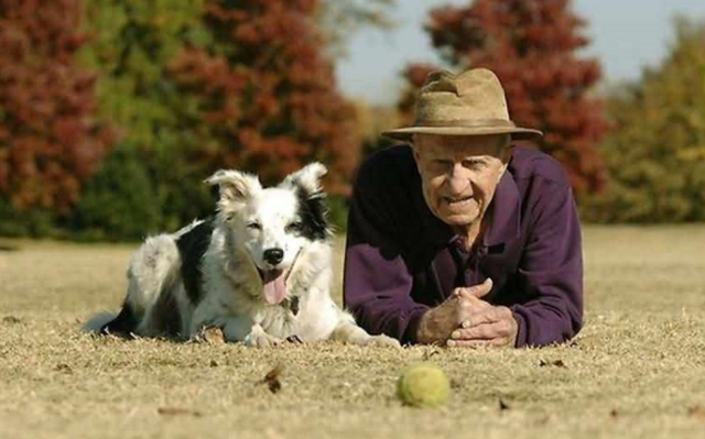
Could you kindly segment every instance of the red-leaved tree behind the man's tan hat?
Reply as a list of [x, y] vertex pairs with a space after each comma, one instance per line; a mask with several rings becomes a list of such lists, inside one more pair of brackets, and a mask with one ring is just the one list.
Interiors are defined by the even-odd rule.
[[[587, 45], [583, 26], [568, 0], [476, 0], [432, 11], [426, 25], [451, 64], [497, 74], [512, 120], [544, 132], [539, 147], [565, 165], [578, 194], [601, 190], [606, 177], [596, 150], [606, 131], [601, 105], [587, 96], [600, 67], [575, 56]], [[430, 67], [406, 72], [414, 89], [419, 69]], [[409, 97], [400, 107], [409, 111]]]

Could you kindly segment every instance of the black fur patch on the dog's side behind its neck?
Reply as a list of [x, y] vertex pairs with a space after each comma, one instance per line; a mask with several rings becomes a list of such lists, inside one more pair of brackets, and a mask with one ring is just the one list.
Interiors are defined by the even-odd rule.
[[186, 295], [193, 305], [197, 305], [203, 298], [200, 261], [210, 244], [213, 229], [214, 218], [208, 218], [176, 240], [181, 255], [181, 276]]

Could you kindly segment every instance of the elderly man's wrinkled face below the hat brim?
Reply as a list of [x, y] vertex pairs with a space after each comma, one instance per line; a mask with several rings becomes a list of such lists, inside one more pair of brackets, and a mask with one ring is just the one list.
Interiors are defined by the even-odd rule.
[[465, 229], [482, 218], [505, 172], [508, 135], [414, 135], [423, 196], [445, 223]]

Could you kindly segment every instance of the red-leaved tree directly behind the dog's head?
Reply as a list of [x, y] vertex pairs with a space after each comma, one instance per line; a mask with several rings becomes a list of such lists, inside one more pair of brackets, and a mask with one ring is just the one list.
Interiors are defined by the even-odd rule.
[[207, 4], [216, 48], [186, 48], [171, 68], [199, 97], [214, 142], [205, 158], [256, 171], [265, 183], [318, 160], [330, 169], [327, 189], [347, 193], [359, 155], [355, 110], [323, 55], [317, 0], [231, 3]]

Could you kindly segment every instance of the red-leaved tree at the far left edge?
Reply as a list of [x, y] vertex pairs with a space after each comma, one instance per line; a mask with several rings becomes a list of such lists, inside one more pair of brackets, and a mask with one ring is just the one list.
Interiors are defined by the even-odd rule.
[[0, 194], [65, 211], [111, 132], [95, 119], [94, 76], [73, 65], [80, 0], [0, 0]]

